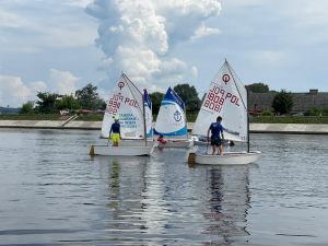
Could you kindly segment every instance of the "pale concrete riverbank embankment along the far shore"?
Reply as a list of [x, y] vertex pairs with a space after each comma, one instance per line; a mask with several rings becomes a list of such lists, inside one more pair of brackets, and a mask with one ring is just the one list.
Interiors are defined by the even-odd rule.
[[[188, 122], [188, 130], [194, 122]], [[80, 120], [0, 120], [0, 128], [101, 130], [102, 121]], [[328, 134], [326, 124], [250, 124], [251, 133]]]

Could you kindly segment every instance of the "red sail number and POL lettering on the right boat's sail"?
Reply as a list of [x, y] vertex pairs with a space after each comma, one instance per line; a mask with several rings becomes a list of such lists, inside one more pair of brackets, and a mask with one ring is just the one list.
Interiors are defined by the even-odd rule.
[[218, 87], [214, 85], [213, 89], [209, 90], [203, 106], [211, 110], [220, 113], [225, 101], [239, 106], [238, 96], [230, 92], [225, 92], [222, 87]]

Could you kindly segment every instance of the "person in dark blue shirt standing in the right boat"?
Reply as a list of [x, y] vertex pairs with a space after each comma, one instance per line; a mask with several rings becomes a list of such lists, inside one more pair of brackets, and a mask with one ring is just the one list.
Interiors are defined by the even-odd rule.
[[212, 155], [218, 153], [218, 149], [220, 152], [220, 155], [223, 155], [223, 142], [224, 142], [224, 136], [223, 136], [223, 127], [221, 125], [222, 117], [218, 116], [216, 122], [212, 122], [208, 130], [208, 142], [210, 141], [210, 131], [211, 131], [211, 145], [212, 145]]

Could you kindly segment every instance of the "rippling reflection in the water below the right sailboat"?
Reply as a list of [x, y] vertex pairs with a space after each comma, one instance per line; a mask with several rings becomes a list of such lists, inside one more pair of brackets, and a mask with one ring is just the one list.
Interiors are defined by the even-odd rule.
[[249, 208], [248, 167], [212, 167], [208, 169], [210, 213], [203, 216], [208, 227], [203, 233], [216, 235], [211, 245], [232, 245], [245, 241]]

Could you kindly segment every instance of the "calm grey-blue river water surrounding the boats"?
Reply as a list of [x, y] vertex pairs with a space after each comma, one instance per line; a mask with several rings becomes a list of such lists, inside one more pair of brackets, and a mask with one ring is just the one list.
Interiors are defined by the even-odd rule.
[[0, 245], [327, 245], [328, 136], [253, 134], [249, 166], [87, 155], [97, 131], [0, 129]]

